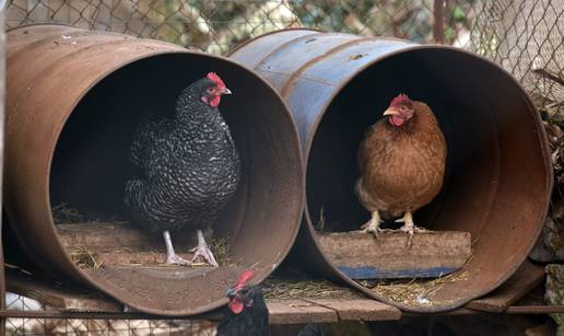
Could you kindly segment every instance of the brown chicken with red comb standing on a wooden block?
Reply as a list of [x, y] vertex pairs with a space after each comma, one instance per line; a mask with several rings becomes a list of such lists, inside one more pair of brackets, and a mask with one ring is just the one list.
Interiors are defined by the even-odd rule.
[[384, 231], [380, 213], [403, 218], [401, 231], [420, 231], [412, 212], [431, 202], [443, 186], [446, 142], [431, 108], [407, 95], [395, 97], [384, 118], [366, 131], [359, 150], [361, 177], [355, 192], [372, 219], [362, 227]]

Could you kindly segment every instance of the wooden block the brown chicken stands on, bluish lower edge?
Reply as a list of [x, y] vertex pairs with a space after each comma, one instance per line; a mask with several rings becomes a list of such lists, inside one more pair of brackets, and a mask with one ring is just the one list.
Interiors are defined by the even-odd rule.
[[425, 231], [413, 235], [361, 231], [317, 235], [324, 253], [353, 279], [438, 277], [460, 269], [472, 253], [469, 232]]

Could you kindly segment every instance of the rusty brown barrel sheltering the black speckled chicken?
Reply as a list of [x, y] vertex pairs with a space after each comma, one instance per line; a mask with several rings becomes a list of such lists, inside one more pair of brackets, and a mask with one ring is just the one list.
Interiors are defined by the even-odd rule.
[[[149, 114], [173, 114], [179, 92], [208, 71], [234, 92], [221, 111], [244, 166], [213, 233], [228, 237], [233, 266], [79, 269], [51, 207], [122, 210], [134, 129]], [[32, 25], [8, 33], [7, 86], [5, 206], [21, 244], [51, 275], [138, 310], [187, 315], [224, 304], [242, 268], [254, 267], [260, 281], [290, 251], [303, 211], [297, 131], [278, 93], [251, 71], [167, 43]]]

